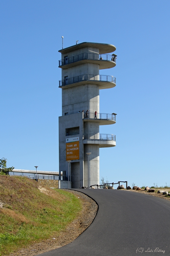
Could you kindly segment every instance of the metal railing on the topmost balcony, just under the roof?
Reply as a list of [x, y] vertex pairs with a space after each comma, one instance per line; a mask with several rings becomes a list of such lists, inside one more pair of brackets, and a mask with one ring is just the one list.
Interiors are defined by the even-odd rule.
[[116, 63], [116, 57], [114, 55], [84, 52], [72, 57], [66, 56], [63, 60], [59, 60], [59, 67], [80, 60], [109, 60]]

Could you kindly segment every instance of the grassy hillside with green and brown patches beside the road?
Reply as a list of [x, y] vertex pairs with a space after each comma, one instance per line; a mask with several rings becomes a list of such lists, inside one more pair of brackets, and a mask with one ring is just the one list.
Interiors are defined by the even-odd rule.
[[57, 236], [81, 210], [73, 194], [35, 180], [0, 175], [0, 256]]

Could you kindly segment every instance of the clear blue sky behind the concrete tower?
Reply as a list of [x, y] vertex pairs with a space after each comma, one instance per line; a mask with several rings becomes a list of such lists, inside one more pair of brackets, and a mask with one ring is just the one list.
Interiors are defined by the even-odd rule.
[[117, 65], [100, 74], [116, 87], [100, 90], [100, 127], [116, 147], [100, 149], [100, 179], [129, 185], [170, 184], [170, 2], [0, 1], [0, 158], [7, 166], [58, 171], [58, 116], [64, 48], [114, 44]]

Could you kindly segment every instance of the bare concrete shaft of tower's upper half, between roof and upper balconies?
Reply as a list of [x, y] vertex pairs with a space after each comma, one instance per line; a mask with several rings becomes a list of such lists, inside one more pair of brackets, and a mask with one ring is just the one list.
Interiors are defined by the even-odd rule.
[[[74, 56], [83, 52], [99, 53], [99, 49], [85, 47], [83, 49], [62, 54], [64, 56]], [[85, 63], [72, 68], [62, 69], [62, 80], [65, 76], [73, 77], [83, 74], [99, 75], [99, 65]], [[68, 89], [62, 89], [62, 116], [64, 113], [74, 114], [78, 111], [89, 110], [89, 112], [99, 112], [99, 85], [85, 84]]]

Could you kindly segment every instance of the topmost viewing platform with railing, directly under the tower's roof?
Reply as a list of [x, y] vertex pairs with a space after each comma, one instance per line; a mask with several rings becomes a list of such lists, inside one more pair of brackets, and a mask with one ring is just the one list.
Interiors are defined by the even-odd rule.
[[80, 53], [71, 57], [64, 57], [59, 60], [59, 68], [71, 68], [85, 63], [99, 64], [99, 69], [114, 68], [116, 66], [115, 54]]

